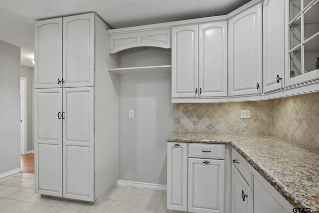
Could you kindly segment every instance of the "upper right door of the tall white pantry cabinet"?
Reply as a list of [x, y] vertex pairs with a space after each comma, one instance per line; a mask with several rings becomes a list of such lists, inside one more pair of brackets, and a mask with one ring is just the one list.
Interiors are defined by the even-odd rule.
[[63, 18], [64, 87], [94, 86], [94, 13]]

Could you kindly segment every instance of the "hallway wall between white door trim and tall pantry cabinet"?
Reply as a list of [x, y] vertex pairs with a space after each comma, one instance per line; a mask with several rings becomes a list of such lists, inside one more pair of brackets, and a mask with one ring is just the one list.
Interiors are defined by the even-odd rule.
[[33, 107], [33, 92], [34, 92], [34, 86], [33, 86], [33, 78], [34, 78], [34, 68], [27, 67], [27, 66], [20, 66], [20, 76], [26, 78], [26, 117], [27, 117], [27, 146], [26, 150], [34, 150], [34, 134], [33, 134], [33, 119], [32, 119], [32, 107]]

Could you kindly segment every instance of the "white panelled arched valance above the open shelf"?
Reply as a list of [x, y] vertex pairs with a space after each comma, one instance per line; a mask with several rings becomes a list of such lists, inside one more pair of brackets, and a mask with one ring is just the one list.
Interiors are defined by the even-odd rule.
[[110, 53], [140, 46], [170, 48], [170, 28], [111, 34]]

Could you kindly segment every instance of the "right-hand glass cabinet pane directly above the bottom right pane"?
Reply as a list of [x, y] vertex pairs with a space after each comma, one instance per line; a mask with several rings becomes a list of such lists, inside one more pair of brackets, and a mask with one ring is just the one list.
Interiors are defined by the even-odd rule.
[[319, 31], [319, 1], [304, 12], [304, 40]]

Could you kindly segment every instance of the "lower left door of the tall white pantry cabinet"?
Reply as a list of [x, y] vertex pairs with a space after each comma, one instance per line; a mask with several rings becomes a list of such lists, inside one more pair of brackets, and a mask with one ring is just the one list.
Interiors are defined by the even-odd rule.
[[62, 88], [35, 90], [35, 192], [62, 197]]

